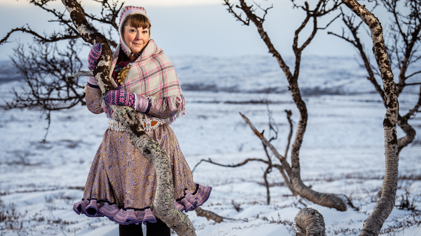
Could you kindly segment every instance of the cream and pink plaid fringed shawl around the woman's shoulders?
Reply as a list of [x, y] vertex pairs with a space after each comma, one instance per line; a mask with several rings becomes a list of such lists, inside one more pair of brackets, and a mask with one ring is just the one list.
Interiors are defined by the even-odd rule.
[[[114, 71], [119, 51], [120, 45], [117, 45], [112, 57], [110, 77]], [[112, 83], [117, 86], [113, 79]], [[172, 123], [176, 118], [186, 114], [179, 77], [171, 61], [163, 50], [157, 47], [153, 39], [149, 39], [144, 51], [131, 66], [122, 89], [149, 98], [157, 108], [164, 108], [168, 105], [171, 110], [178, 110], [176, 115], [166, 119], [166, 123]], [[139, 112], [139, 117], [146, 117], [146, 115]]]

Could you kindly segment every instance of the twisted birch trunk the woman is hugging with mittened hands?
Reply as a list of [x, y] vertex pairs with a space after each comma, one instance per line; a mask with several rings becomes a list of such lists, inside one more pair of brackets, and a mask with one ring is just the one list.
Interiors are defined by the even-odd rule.
[[[107, 39], [101, 33], [94, 32], [83, 14], [83, 9], [76, 0], [61, 1], [70, 13], [70, 18], [85, 42], [91, 45], [101, 43], [102, 52], [98, 66], [93, 70], [95, 79], [102, 94], [113, 90], [109, 78], [112, 52]], [[130, 136], [131, 143], [154, 165], [157, 176], [155, 199], [151, 205], [154, 215], [165, 222], [179, 236], [195, 236], [195, 228], [186, 214], [179, 211], [174, 205], [174, 186], [171, 165], [164, 149], [144, 131], [137, 112], [126, 106], [110, 105], [116, 114], [117, 121], [123, 123]]]

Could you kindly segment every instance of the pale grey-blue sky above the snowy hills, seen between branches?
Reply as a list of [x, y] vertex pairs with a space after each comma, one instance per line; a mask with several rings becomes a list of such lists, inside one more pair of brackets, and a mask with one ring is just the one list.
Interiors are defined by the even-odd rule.
[[[252, 3], [251, 1], [248, 1]], [[282, 55], [293, 55], [293, 33], [304, 19], [304, 12], [292, 9], [289, 0], [258, 1], [263, 6], [273, 4], [264, 23], [265, 31]], [[310, 6], [314, 0], [309, 1]], [[141, 4], [140, 4], [141, 3]], [[232, 0], [232, 3], [237, 1]], [[249, 4], [250, 4], [249, 3]], [[99, 12], [99, 3], [83, 0], [86, 12]], [[269, 55], [268, 49], [258, 35], [256, 26], [243, 26], [227, 12], [222, 0], [126, 0], [125, 5], [141, 5], [147, 10], [151, 19], [151, 38], [171, 58], [179, 55], [209, 55], [215, 57], [236, 57], [241, 55]], [[64, 9], [61, 1], [50, 5]], [[338, 13], [326, 16], [323, 23]], [[55, 23], [48, 22], [51, 15], [25, 0], [0, 0], [0, 37], [3, 38], [10, 29], [25, 24], [40, 32], [51, 32], [59, 29]], [[387, 19], [386, 19], [387, 20]], [[311, 31], [312, 22], [300, 36], [304, 40]], [[341, 32], [341, 22], [337, 20], [328, 30], [320, 30], [312, 43], [304, 50], [303, 55], [341, 55], [353, 56], [354, 49], [349, 43], [331, 35], [328, 31]], [[117, 35], [117, 34], [116, 34]], [[31, 42], [28, 34], [15, 32], [9, 41]], [[369, 40], [369, 38], [368, 38]], [[302, 41], [299, 41], [301, 44]], [[368, 41], [370, 43], [370, 41]], [[13, 53], [16, 42], [0, 45], [0, 60], [8, 59]]]

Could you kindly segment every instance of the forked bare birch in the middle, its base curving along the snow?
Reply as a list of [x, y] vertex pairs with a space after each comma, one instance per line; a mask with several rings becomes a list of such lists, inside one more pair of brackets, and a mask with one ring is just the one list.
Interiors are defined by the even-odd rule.
[[[246, 123], [249, 124], [250, 128], [252, 128], [253, 133], [256, 134], [256, 136], [258, 136], [259, 139], [261, 139], [262, 143], [269, 147], [272, 153], [280, 161], [280, 163], [282, 164], [282, 168], [288, 174], [290, 183], [294, 191], [296, 191], [301, 197], [304, 197], [316, 204], [320, 204], [325, 207], [333, 207], [340, 211], [345, 211], [347, 209], [346, 203], [348, 200], [346, 196], [320, 193], [318, 191], [314, 191], [313, 189], [309, 188], [309, 186], [306, 186], [304, 184], [304, 182], [301, 180], [301, 167], [299, 158], [299, 152], [301, 144], [303, 142], [304, 133], [306, 131], [308, 119], [306, 103], [302, 99], [300, 89], [298, 87], [298, 77], [301, 65], [301, 53], [312, 41], [318, 30], [326, 29], [336, 18], [339, 17], [336, 16], [324, 27], [320, 27], [317, 23], [320, 17], [325, 16], [336, 10], [341, 4], [341, 2], [339, 0], [319, 0], [314, 8], [310, 8], [307, 2], [305, 2], [304, 5], [298, 5], [294, 0], [292, 0], [294, 8], [304, 10], [306, 13], [306, 17], [294, 33], [294, 39], [292, 44], [293, 52], [295, 55], [294, 71], [290, 70], [289, 66], [282, 58], [281, 54], [275, 49], [269, 37], [269, 34], [267, 34], [267, 32], [264, 30], [263, 23], [265, 21], [266, 14], [268, 13], [268, 10], [272, 7], [261, 8], [260, 5], [256, 4], [256, 6], [254, 6], [253, 8], [253, 5], [247, 5], [245, 0], [239, 0], [239, 2], [240, 5], [234, 6], [234, 4], [230, 2], [230, 0], [224, 0], [224, 5], [226, 5], [228, 12], [231, 13], [237, 21], [240, 21], [242, 22], [242, 24], [247, 26], [249, 26], [250, 23], [253, 23], [257, 27], [258, 34], [266, 44], [269, 53], [271, 53], [273, 57], [277, 60], [277, 63], [284, 72], [289, 84], [288, 89], [291, 91], [292, 98], [296, 104], [298, 112], [300, 113], [300, 119], [297, 124], [295, 137], [291, 145], [291, 165], [286, 161], [284, 156], [277, 152], [277, 150], [272, 146], [272, 144], [268, 142], [268, 140], [263, 136], [263, 134], [258, 132], [256, 128], [252, 126], [251, 122], [248, 121], [248, 119], [245, 118], [245, 116], [242, 115], [242, 118], [246, 121]], [[260, 9], [263, 12], [263, 16], [256, 15], [257, 9]], [[245, 14], [245, 16], [243, 14]], [[302, 45], [298, 45], [298, 36], [310, 20], [313, 21], [312, 32], [309, 35], [309, 37], [307, 37], [304, 40], [304, 43]]]

